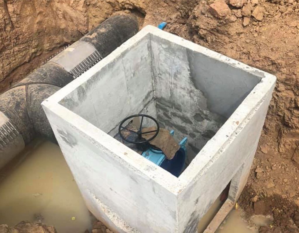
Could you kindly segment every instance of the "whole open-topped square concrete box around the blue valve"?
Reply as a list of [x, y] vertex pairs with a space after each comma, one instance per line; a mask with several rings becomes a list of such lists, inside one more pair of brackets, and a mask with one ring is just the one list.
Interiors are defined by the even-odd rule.
[[[239, 197], [275, 76], [147, 26], [42, 105], [89, 210], [116, 232], [195, 232]], [[146, 113], [188, 137], [177, 178], [113, 138]]]

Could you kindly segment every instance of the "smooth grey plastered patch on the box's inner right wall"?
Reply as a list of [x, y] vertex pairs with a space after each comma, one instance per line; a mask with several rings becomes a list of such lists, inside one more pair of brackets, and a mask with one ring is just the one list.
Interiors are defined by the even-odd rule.
[[[228, 66], [225, 62], [203, 53], [187, 49], [190, 77], [196, 89], [207, 98], [211, 112], [229, 118], [250, 91], [261, 81], [254, 73], [244, 72], [241, 68]], [[227, 58], [230, 59], [230, 58]], [[234, 64], [241, 64], [234, 61]], [[260, 73], [262, 74], [262, 73]]]

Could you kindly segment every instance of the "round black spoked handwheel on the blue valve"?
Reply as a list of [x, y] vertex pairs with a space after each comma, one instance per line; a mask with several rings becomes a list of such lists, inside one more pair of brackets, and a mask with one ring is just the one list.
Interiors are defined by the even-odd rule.
[[[126, 121], [128, 121], [129, 119], [134, 118], [134, 117], [141, 117], [140, 127], [139, 127], [139, 130], [138, 130], [138, 131], [135, 131], [135, 130], [132, 130], [132, 129], [128, 129], [128, 128], [126, 128], [126, 126], [123, 126], [123, 123], [125, 123]], [[155, 122], [155, 124], [156, 124], [156, 126], [157, 126], [157, 129], [156, 129], [156, 130], [152, 130], [152, 131], [142, 132], [143, 118], [150, 118], [150, 119], [152, 119], [152, 120]], [[127, 138], [126, 138], [125, 136], [123, 136], [123, 134], [122, 134], [122, 131], [123, 131], [123, 130], [127, 130], [127, 131], [129, 131], [129, 132], [131, 132], [131, 133], [135, 133], [135, 134], [137, 134], [137, 136], [138, 136], [137, 139], [138, 139], [138, 140], [132, 141], [132, 140], [127, 139]], [[129, 116], [129, 117], [123, 119], [123, 120], [120, 122], [120, 125], [119, 125], [119, 127], [118, 127], [118, 133], [119, 133], [120, 137], [121, 137], [124, 141], [126, 141], [126, 142], [130, 142], [130, 143], [134, 143], [134, 144], [143, 144], [143, 143], [147, 143], [147, 142], [151, 141], [152, 139], [154, 139], [154, 138], [158, 135], [159, 130], [160, 130], [160, 126], [159, 126], [158, 121], [157, 121], [155, 118], [153, 118], [152, 116], [145, 115], [145, 114], [136, 114], [136, 115]], [[144, 138], [142, 138], [142, 134], [146, 134], [146, 133], [154, 133], [154, 132], [156, 132], [156, 133], [155, 133], [155, 135], [152, 136], [151, 138], [149, 138], [149, 139], [147, 139], [147, 140], [144, 139]]]

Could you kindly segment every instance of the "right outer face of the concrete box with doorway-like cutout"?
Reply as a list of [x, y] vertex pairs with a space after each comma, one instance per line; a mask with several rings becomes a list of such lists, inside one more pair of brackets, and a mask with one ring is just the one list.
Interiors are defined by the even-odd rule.
[[[242, 170], [241, 174], [237, 175], [236, 181], [233, 182], [236, 186], [234, 193], [237, 195], [242, 191], [260, 138], [271, 93], [272, 89], [251, 110], [245, 121], [239, 124], [228, 143], [179, 193], [179, 232], [193, 233], [196, 231], [198, 221], [240, 169]], [[255, 130], [252, 130], [253, 128]], [[242, 182], [240, 183], [240, 181]]]

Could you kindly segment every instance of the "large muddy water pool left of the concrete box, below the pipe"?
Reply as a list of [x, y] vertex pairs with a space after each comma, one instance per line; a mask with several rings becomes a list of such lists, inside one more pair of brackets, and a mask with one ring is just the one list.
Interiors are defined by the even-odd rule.
[[57, 145], [34, 142], [0, 177], [0, 224], [42, 221], [65, 233], [91, 228], [89, 211]]

